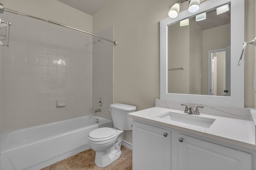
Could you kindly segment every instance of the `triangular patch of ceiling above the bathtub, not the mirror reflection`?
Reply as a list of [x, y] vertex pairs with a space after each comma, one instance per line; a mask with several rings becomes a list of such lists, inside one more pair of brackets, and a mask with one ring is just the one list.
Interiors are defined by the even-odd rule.
[[112, 0], [58, 0], [63, 4], [71, 6], [79, 11], [82, 11], [90, 16], [93, 16], [109, 4]]

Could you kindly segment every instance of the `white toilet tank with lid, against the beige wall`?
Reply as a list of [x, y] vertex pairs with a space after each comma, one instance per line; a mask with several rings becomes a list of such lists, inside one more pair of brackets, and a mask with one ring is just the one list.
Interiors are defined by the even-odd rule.
[[113, 127], [120, 130], [132, 130], [132, 118], [128, 117], [128, 113], [136, 110], [136, 106], [127, 104], [111, 104], [110, 111], [112, 116]]

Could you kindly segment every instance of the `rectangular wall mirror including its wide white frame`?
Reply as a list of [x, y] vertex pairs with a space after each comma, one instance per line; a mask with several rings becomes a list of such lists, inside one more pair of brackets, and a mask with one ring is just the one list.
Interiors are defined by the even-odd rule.
[[[229, 12], [217, 16], [224, 5]], [[206, 20], [196, 21], [205, 12]], [[196, 13], [161, 20], [160, 99], [244, 107], [244, 66], [237, 65], [243, 42], [243, 0], [209, 0]]]

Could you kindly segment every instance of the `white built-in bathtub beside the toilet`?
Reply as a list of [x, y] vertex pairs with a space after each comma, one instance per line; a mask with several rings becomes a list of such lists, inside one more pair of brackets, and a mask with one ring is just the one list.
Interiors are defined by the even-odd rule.
[[95, 115], [0, 134], [0, 170], [39, 170], [89, 149], [88, 133], [111, 127]]

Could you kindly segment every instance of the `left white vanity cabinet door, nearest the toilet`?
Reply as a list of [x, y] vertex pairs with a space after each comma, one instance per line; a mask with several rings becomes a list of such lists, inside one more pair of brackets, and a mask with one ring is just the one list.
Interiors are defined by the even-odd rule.
[[171, 169], [171, 131], [134, 121], [133, 170]]

